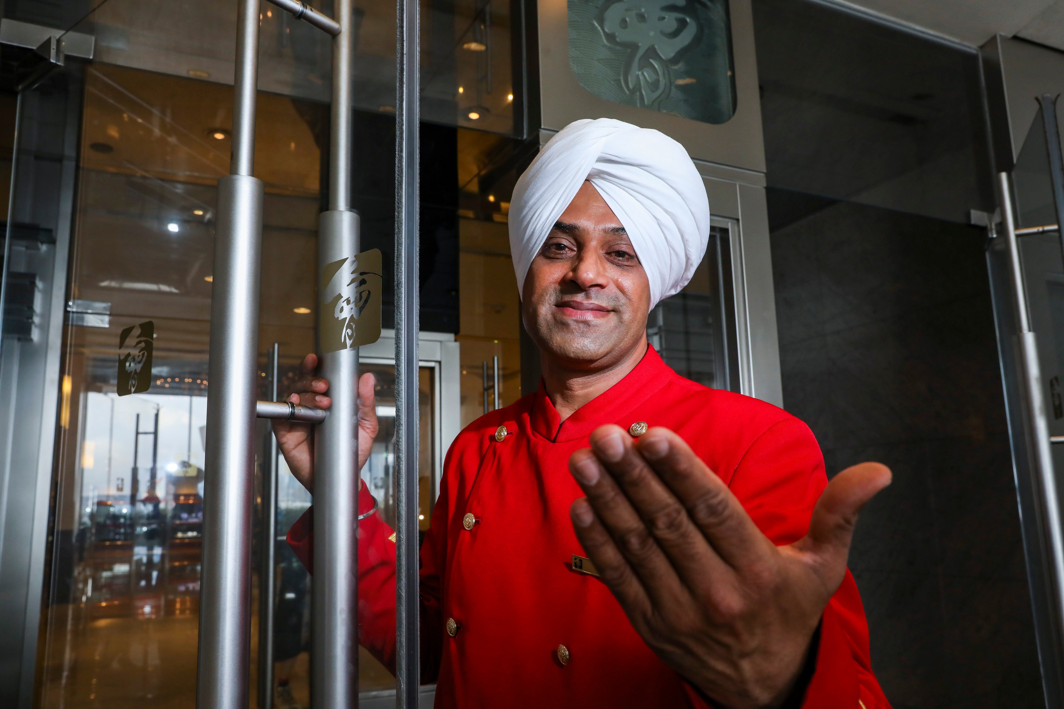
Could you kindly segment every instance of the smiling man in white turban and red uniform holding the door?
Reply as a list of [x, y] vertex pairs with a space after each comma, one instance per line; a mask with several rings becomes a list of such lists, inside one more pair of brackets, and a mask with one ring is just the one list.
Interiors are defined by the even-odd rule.
[[[605, 119], [561, 132], [518, 183], [511, 246], [543, 381], [447, 455], [420, 559], [436, 706], [890, 706], [846, 570], [890, 471], [829, 485], [805, 424], [647, 343], [649, 309], [704, 251], [701, 184], [679, 144]], [[315, 365], [290, 401], [326, 408]], [[359, 386], [362, 465], [377, 424], [372, 378]], [[313, 491], [310, 428], [275, 426]], [[394, 668], [394, 536], [375, 505], [363, 488], [360, 638]], [[311, 520], [288, 534], [307, 568]]]

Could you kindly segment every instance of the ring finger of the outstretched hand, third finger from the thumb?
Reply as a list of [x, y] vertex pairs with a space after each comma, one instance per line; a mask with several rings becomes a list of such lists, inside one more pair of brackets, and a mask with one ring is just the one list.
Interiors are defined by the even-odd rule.
[[654, 603], [666, 602], [658, 593], [675, 588], [680, 579], [617, 483], [588, 449], [569, 456], [569, 471], [587, 495], [596, 520], [613, 538]]

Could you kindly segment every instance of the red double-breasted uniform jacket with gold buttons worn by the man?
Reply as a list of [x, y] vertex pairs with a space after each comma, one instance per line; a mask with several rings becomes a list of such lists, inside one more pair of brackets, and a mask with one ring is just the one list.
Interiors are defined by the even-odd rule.
[[[637, 421], [682, 436], [777, 544], [808, 531], [828, 480], [813, 433], [786, 411], [681, 377], [653, 348], [564, 422], [541, 386], [478, 419], [447, 454], [420, 558], [422, 679], [437, 680], [436, 707], [709, 706], [647, 647], [606, 587], [571, 569], [584, 551], [569, 521], [569, 505], [582, 496], [569, 455], [598, 426]], [[372, 505], [363, 488], [360, 511]], [[469, 512], [477, 523], [466, 529]], [[307, 569], [311, 520], [307, 512], [288, 533]], [[378, 514], [360, 523], [359, 622], [362, 644], [394, 669], [389, 538]], [[565, 664], [559, 645], [569, 651]], [[815, 662], [803, 707], [890, 706], [871, 672], [849, 572], [825, 609]]]

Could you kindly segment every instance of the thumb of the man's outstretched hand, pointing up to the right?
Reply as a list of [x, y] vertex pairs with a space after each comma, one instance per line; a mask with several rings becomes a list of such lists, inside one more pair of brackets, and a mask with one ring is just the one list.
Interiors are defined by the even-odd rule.
[[876, 493], [891, 484], [891, 469], [862, 462], [831, 478], [813, 509], [809, 534], [795, 546], [813, 556], [814, 567], [834, 592], [846, 573], [858, 513]]

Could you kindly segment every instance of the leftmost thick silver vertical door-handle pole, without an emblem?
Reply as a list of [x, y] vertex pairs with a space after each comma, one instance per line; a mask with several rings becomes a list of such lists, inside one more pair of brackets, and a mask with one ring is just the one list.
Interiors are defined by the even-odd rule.
[[238, 0], [232, 174], [218, 181], [211, 300], [199, 709], [247, 709], [251, 625], [259, 268], [263, 183], [254, 167], [259, 0]]

